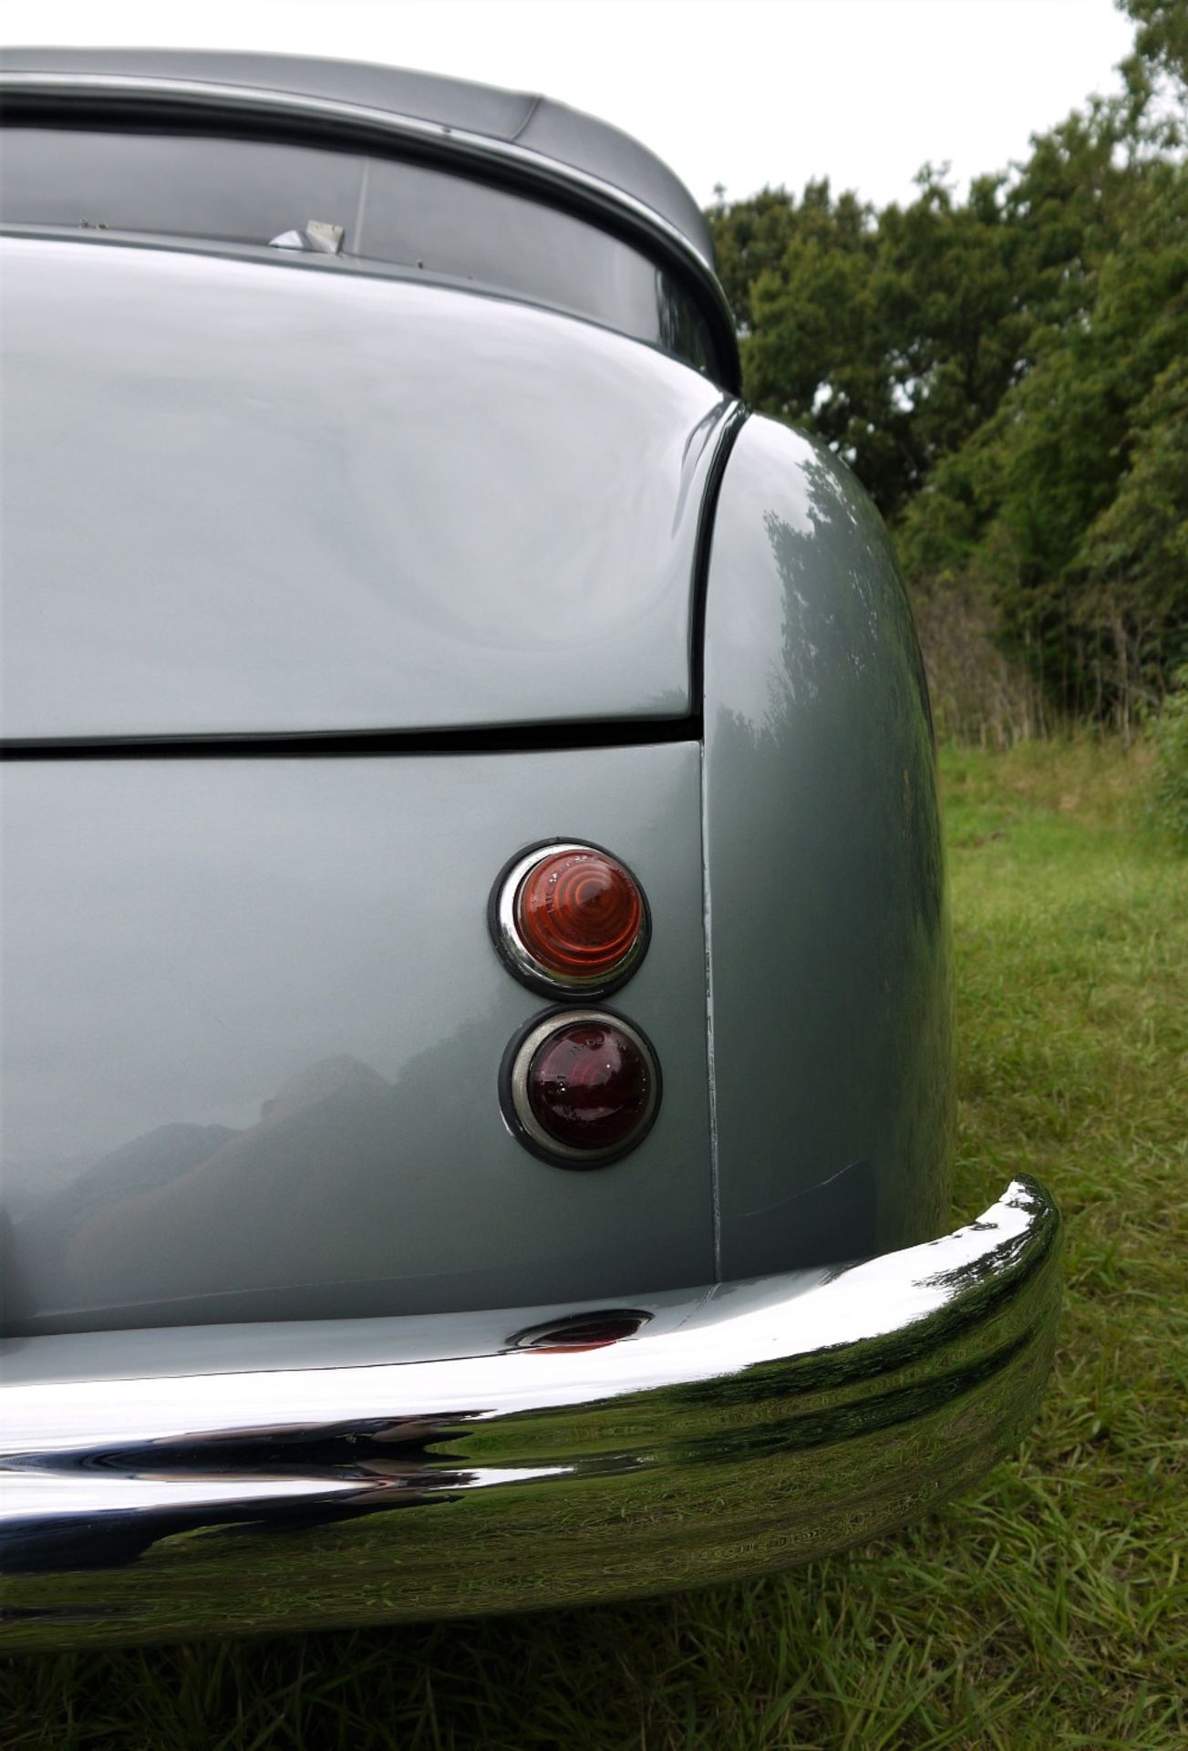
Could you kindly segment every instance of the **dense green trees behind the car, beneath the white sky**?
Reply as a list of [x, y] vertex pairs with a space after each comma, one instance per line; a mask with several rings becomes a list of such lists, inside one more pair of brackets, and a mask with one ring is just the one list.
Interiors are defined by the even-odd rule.
[[1122, 93], [964, 200], [709, 212], [745, 396], [891, 522], [957, 735], [1129, 732], [1188, 662], [1188, 0], [1120, 5]]

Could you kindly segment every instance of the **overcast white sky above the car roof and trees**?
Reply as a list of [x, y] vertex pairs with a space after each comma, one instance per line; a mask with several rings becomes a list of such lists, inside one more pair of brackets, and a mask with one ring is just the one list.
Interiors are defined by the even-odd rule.
[[910, 200], [1115, 89], [1113, 0], [5, 0], [7, 44], [271, 49], [546, 91], [637, 135], [702, 203], [828, 175]]

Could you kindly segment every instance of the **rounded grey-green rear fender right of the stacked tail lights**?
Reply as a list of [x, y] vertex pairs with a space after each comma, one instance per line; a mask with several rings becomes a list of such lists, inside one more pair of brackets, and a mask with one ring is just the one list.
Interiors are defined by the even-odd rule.
[[723, 1278], [938, 1233], [950, 935], [919, 643], [864, 490], [765, 418], [714, 522], [703, 833]]

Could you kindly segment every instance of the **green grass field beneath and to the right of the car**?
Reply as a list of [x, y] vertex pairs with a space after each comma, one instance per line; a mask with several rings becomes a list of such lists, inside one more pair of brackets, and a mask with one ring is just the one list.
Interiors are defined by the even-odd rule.
[[1179, 1751], [1188, 863], [1136, 826], [1141, 767], [1092, 742], [943, 760], [957, 1212], [1031, 1168], [1067, 1219], [1045, 1413], [973, 1497], [654, 1604], [14, 1660], [0, 1744]]

